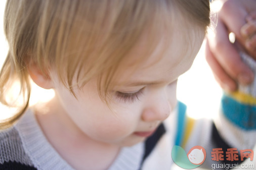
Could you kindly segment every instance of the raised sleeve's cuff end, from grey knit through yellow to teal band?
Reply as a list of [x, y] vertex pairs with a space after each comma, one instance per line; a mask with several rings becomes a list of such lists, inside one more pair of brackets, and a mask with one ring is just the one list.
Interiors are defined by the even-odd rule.
[[238, 91], [224, 93], [222, 112], [224, 116], [243, 130], [256, 130], [256, 62], [247, 54], [240, 53], [242, 61], [254, 73], [250, 85], [238, 85]]

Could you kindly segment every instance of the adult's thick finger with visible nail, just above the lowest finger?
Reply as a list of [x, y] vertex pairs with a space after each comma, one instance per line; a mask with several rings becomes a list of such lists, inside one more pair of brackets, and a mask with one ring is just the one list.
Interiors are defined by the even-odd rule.
[[214, 51], [215, 59], [218, 61], [224, 71], [234, 80], [241, 84], [251, 83], [253, 73], [240, 58], [234, 44], [229, 41], [228, 32], [224, 24], [220, 21], [217, 25], [217, 34], [215, 41], [210, 43]]

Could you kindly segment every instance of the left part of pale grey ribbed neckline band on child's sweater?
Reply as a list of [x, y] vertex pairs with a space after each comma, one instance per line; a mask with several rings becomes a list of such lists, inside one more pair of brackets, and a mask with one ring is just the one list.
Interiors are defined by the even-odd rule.
[[26, 153], [37, 169], [73, 169], [47, 141], [31, 110], [26, 112], [15, 127]]

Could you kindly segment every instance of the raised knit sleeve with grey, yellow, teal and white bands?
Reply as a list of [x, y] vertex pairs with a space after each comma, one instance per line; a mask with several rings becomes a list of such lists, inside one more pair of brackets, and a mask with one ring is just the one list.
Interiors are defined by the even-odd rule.
[[237, 150], [253, 149], [256, 141], [256, 62], [243, 52], [240, 55], [254, 73], [254, 81], [249, 85], [239, 84], [236, 92], [225, 92], [215, 120], [220, 136]]

